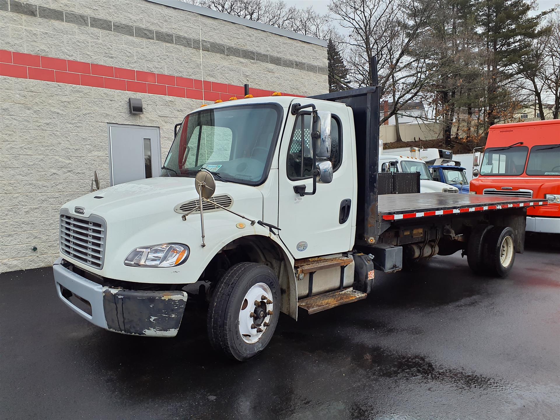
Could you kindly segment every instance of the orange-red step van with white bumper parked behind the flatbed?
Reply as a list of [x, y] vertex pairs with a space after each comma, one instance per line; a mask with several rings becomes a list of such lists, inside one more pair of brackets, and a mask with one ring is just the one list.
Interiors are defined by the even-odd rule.
[[471, 194], [546, 199], [547, 206], [528, 207], [526, 230], [560, 233], [560, 120], [490, 127], [474, 166]]

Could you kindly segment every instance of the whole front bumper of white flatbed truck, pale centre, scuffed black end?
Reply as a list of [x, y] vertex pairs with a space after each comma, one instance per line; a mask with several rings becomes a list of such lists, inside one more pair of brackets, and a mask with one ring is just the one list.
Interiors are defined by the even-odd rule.
[[[183, 290], [103, 286], [74, 273], [62, 258], [54, 262], [53, 272], [60, 300], [92, 324], [117, 333], [146, 336], [174, 337], [179, 331], [187, 298]], [[85, 303], [85, 310], [69, 300], [72, 296]]]

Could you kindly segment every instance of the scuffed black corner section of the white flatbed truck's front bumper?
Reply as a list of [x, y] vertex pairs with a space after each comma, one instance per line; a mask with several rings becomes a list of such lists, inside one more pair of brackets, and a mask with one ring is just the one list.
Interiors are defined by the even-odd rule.
[[174, 337], [185, 311], [186, 292], [103, 288], [107, 328], [124, 334]]

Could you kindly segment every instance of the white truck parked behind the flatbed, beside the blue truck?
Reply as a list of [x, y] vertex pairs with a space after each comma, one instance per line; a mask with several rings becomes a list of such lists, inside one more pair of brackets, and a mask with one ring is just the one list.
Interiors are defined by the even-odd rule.
[[432, 179], [430, 169], [421, 159], [384, 154], [379, 156], [379, 168], [380, 172], [419, 172], [420, 192], [459, 192], [455, 186]]

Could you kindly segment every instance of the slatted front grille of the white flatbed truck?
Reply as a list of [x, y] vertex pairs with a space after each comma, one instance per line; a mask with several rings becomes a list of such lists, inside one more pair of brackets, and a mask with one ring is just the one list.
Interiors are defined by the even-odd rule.
[[60, 252], [96, 269], [103, 267], [106, 238], [105, 220], [91, 215], [72, 216], [60, 211]]

